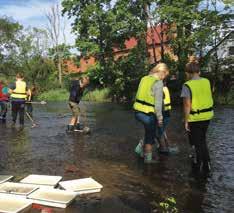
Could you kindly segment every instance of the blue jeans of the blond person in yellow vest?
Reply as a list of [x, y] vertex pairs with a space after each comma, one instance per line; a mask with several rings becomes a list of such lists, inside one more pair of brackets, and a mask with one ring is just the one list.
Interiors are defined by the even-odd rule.
[[145, 144], [154, 144], [156, 133], [156, 116], [155, 114], [146, 114], [143, 112], [135, 112], [135, 118], [144, 125], [145, 128]]

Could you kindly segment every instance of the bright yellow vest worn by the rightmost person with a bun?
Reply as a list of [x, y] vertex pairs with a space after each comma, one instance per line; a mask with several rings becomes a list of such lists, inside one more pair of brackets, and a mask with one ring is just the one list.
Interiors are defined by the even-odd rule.
[[185, 83], [191, 91], [191, 110], [189, 122], [210, 120], [214, 116], [210, 81], [206, 78], [190, 80]]

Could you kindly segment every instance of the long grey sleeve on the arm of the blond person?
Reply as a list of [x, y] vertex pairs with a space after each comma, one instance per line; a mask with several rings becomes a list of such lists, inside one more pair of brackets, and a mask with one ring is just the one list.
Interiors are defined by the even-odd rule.
[[162, 106], [163, 106], [163, 82], [157, 81], [152, 87], [152, 95], [155, 97], [155, 111], [158, 120], [163, 119]]

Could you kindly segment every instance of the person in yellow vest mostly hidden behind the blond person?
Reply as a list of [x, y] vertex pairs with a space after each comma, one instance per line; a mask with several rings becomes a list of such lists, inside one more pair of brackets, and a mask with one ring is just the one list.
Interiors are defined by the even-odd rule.
[[[162, 106], [162, 114], [163, 114], [163, 125], [158, 128], [157, 137], [159, 142], [159, 152], [160, 153], [169, 153], [169, 145], [168, 138], [166, 134], [166, 129], [170, 121], [170, 112], [171, 112], [171, 96], [169, 89], [166, 85], [166, 82], [163, 82], [163, 106]], [[164, 143], [163, 143], [164, 140]]]

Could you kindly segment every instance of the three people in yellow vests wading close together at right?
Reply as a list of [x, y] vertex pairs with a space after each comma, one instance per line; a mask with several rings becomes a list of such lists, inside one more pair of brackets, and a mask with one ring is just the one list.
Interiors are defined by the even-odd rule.
[[[193, 57], [185, 67], [187, 81], [182, 87], [184, 127], [191, 147], [195, 150], [192, 166], [201, 172], [210, 171], [210, 156], [206, 143], [206, 132], [214, 116], [211, 85], [208, 79], [200, 77], [198, 61]], [[135, 103], [135, 118], [143, 124], [145, 135], [143, 146], [138, 144], [136, 152], [145, 163], [156, 162], [153, 145], [159, 143], [159, 151], [165, 149], [162, 136], [170, 117], [170, 93], [164, 84], [169, 75], [166, 64], [159, 63], [144, 76], [138, 86]], [[164, 147], [163, 147], [164, 146]]]

